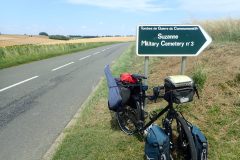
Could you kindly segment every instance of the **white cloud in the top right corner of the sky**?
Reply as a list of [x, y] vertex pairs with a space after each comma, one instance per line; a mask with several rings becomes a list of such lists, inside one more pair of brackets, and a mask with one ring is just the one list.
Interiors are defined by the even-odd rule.
[[178, 0], [179, 8], [188, 12], [232, 13], [240, 12], [239, 0]]

